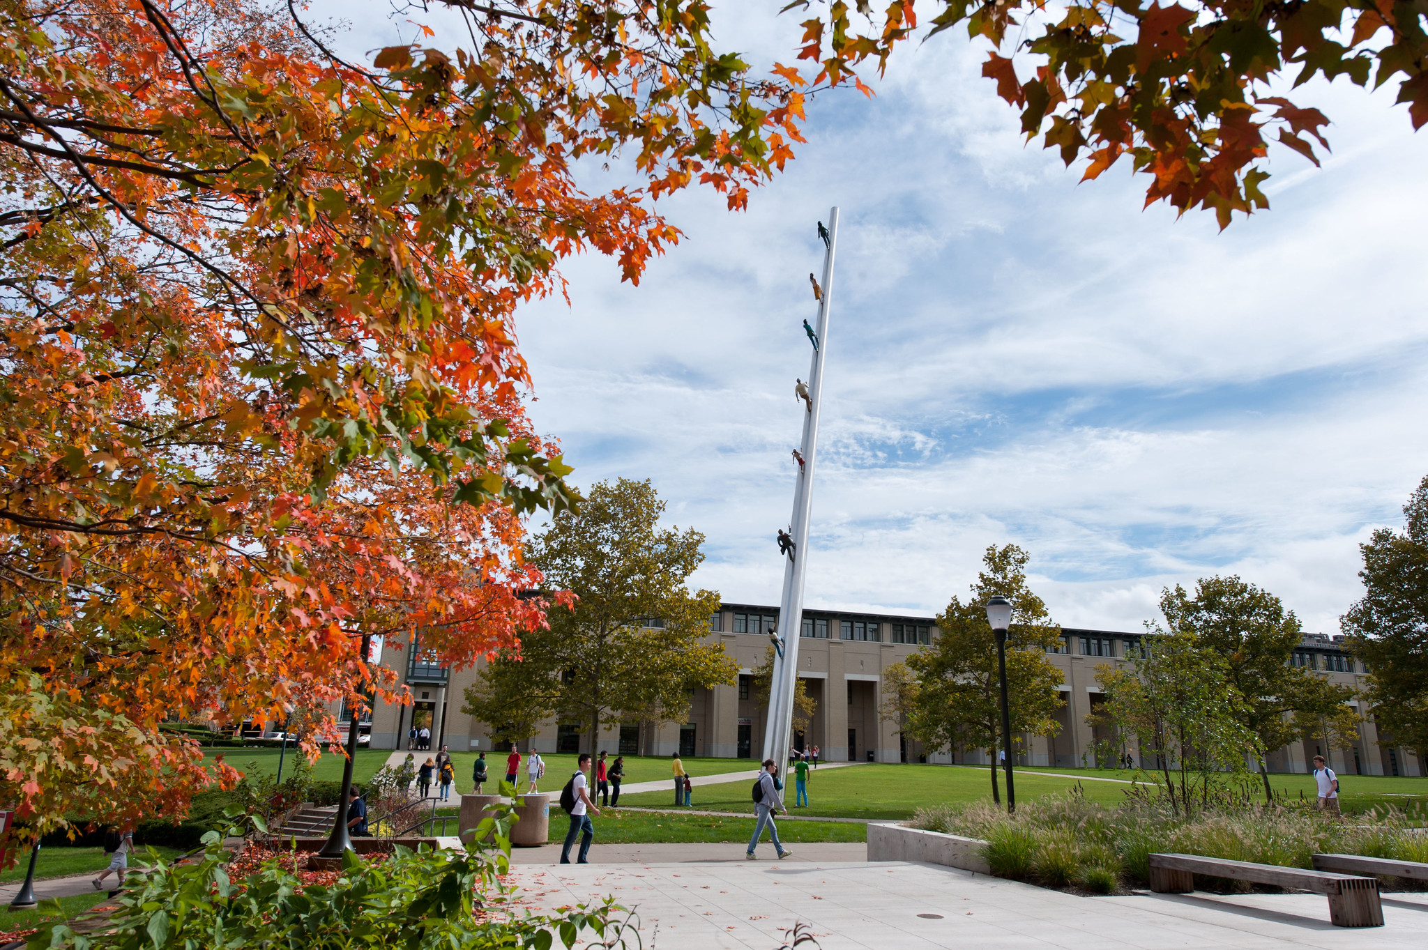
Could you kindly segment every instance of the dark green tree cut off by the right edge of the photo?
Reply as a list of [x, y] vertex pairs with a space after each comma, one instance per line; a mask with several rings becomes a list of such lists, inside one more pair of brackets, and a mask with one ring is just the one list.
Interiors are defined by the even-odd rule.
[[1368, 670], [1374, 722], [1428, 753], [1428, 478], [1404, 505], [1405, 531], [1374, 532], [1364, 553], [1364, 599], [1339, 623]]

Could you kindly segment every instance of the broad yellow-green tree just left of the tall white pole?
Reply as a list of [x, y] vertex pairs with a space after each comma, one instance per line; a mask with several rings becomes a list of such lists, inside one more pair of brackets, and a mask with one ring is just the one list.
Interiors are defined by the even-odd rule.
[[685, 585], [704, 535], [661, 529], [663, 514], [648, 479], [621, 478], [597, 484], [578, 514], [555, 515], [530, 563], [573, 596], [481, 669], [463, 710], [510, 732], [550, 716], [580, 722], [594, 752], [601, 723], [681, 720], [691, 689], [733, 683], [724, 646], [704, 642], [720, 596]]

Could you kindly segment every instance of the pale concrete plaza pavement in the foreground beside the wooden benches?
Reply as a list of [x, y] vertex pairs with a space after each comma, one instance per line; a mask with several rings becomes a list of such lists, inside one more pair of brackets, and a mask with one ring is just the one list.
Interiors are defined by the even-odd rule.
[[1387, 894], [1384, 927], [1345, 929], [1329, 923], [1319, 894], [1077, 897], [894, 862], [795, 863], [765, 854], [758, 862], [518, 866], [511, 879], [531, 907], [613, 894], [638, 913], [645, 947], [671, 950], [774, 950], [785, 939], [780, 929], [794, 921], [810, 924], [824, 950], [1428, 946], [1422, 893]]

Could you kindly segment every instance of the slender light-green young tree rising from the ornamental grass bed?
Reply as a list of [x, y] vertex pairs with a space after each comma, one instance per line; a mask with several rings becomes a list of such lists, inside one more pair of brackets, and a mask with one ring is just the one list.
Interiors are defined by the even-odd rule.
[[1192, 633], [1147, 625], [1141, 649], [1120, 669], [1097, 666], [1095, 682], [1105, 693], [1100, 715], [1140, 739], [1141, 757], [1154, 757], [1177, 813], [1204, 807], [1227, 775], [1245, 773], [1245, 753], [1255, 739], [1241, 725], [1242, 703], [1228, 665]]

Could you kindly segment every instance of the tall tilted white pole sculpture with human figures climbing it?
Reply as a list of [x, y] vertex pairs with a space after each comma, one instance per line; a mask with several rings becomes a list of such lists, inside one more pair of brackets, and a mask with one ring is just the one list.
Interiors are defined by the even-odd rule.
[[[838, 248], [838, 208], [828, 213], [828, 228], [820, 237], [825, 244], [823, 282], [818, 294], [818, 324], [814, 328], [813, 365], [808, 369], [808, 401], [804, 412], [803, 464], [794, 489], [794, 516], [790, 525], [793, 556], [784, 559], [784, 593], [778, 602], [778, 650], [768, 689], [768, 717], [764, 727], [764, 757], [780, 769], [788, 763], [793, 739], [794, 688], [798, 676], [798, 636], [803, 629], [804, 565], [808, 562], [808, 512], [813, 504], [813, 474], [818, 464], [818, 409], [823, 405], [823, 365], [828, 355], [828, 318], [833, 312], [833, 255]], [[805, 321], [807, 322], [807, 321]], [[824, 696], [824, 702], [828, 698]]]

